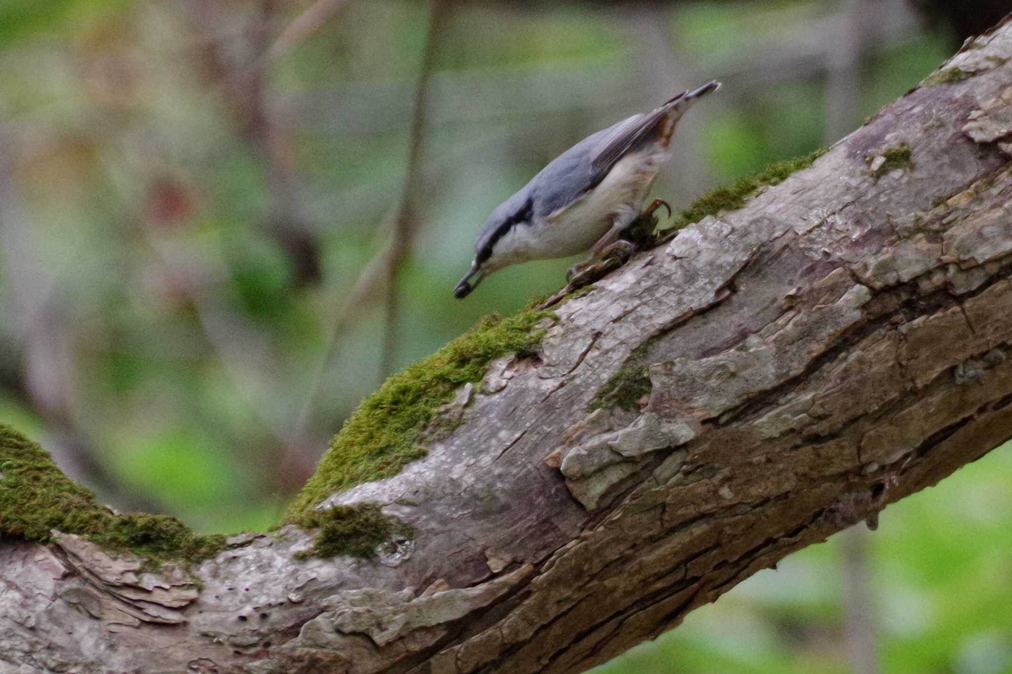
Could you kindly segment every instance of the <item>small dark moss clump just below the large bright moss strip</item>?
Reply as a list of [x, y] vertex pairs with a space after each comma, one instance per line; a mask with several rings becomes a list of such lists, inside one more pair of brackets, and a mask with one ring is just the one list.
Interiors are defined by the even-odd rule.
[[335, 555], [370, 558], [375, 554], [376, 546], [394, 536], [412, 535], [406, 524], [381, 512], [376, 503], [313, 510], [303, 515], [300, 523], [306, 528], [318, 531], [313, 549], [299, 553], [297, 559]]

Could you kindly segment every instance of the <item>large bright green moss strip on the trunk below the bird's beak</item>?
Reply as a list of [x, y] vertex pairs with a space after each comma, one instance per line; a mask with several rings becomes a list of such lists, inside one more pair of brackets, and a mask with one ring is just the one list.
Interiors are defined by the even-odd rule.
[[532, 331], [534, 324], [550, 317], [555, 314], [531, 308], [507, 318], [486, 316], [438, 353], [388, 379], [344, 422], [289, 506], [287, 520], [303, 523], [313, 506], [331, 494], [396, 475], [405, 464], [425, 456], [422, 436], [453, 390], [481, 381], [489, 364], [501, 356], [532, 356], [543, 335], [543, 330]]

